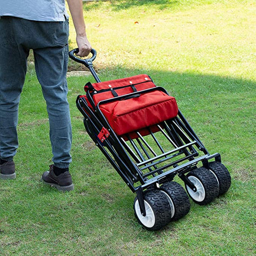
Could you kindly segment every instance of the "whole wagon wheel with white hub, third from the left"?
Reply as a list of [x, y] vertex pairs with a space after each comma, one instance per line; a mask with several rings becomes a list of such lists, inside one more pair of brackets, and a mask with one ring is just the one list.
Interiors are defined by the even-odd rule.
[[187, 192], [195, 203], [199, 205], [208, 204], [219, 195], [218, 180], [209, 169], [200, 167], [192, 170], [187, 174], [187, 178], [197, 189], [193, 191], [186, 185]]

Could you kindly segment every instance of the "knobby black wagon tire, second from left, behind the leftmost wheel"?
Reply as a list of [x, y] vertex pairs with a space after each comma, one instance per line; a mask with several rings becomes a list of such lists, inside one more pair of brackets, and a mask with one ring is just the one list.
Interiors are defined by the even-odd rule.
[[169, 202], [169, 204], [172, 205], [171, 221], [179, 220], [189, 212], [189, 197], [185, 189], [179, 183], [175, 181], [166, 182], [160, 189], [163, 190], [167, 194], [167, 198], [171, 200], [171, 202]]

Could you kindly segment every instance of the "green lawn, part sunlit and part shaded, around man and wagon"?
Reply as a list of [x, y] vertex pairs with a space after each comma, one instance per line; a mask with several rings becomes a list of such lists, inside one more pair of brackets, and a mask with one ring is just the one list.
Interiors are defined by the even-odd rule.
[[68, 78], [75, 190], [43, 185], [52, 157], [49, 124], [30, 66], [17, 179], [0, 181], [0, 255], [255, 255], [254, 1], [111, 1], [84, 9], [101, 80], [147, 73], [164, 86], [210, 153], [221, 154], [231, 187], [209, 205], [191, 202], [185, 218], [161, 231], [141, 228], [134, 195], [85, 132], [75, 106], [91, 76]]

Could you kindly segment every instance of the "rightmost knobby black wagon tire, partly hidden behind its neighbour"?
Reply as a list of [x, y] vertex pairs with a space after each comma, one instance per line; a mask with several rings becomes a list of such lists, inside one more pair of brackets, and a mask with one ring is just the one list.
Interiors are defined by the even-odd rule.
[[210, 170], [214, 172], [219, 182], [219, 195], [225, 194], [231, 186], [231, 177], [228, 169], [220, 162], [210, 162]]

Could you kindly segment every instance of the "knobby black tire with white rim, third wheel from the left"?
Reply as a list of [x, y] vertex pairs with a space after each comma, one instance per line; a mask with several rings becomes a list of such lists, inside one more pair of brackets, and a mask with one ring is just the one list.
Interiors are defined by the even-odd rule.
[[[204, 190], [203, 198], [197, 199], [193, 198], [193, 195], [190, 194], [191, 190], [189, 190], [188, 186], [186, 185], [186, 190], [188, 195], [191, 197], [191, 199], [199, 204], [199, 205], [205, 205], [213, 201], [214, 198], [216, 198], [219, 195], [219, 183], [215, 175], [209, 170], [204, 167], [199, 167], [197, 169], [192, 170], [187, 174], [187, 178], [196, 178], [201, 182], [202, 190]], [[193, 182], [194, 183], [194, 182]], [[195, 185], [195, 183], [194, 183]], [[199, 186], [201, 186], [199, 185]], [[195, 185], [196, 186], [196, 185]], [[199, 189], [197, 190], [199, 191]]]

